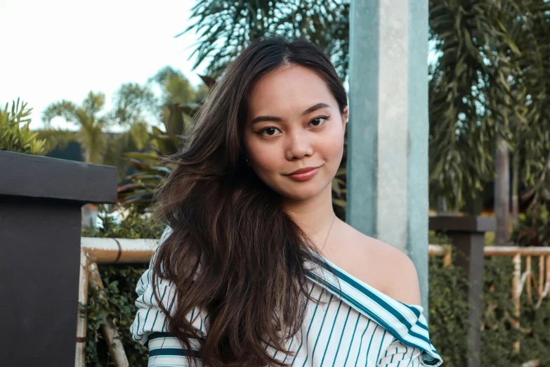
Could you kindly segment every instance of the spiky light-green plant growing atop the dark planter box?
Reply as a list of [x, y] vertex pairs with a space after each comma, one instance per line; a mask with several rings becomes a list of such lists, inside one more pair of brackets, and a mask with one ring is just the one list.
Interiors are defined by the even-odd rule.
[[12, 101], [11, 109], [8, 103], [4, 110], [0, 110], [0, 150], [8, 150], [15, 153], [32, 155], [46, 154], [46, 141], [37, 139], [37, 132], [31, 131], [28, 118], [32, 108], [27, 108], [27, 103], [19, 98], [17, 103]]

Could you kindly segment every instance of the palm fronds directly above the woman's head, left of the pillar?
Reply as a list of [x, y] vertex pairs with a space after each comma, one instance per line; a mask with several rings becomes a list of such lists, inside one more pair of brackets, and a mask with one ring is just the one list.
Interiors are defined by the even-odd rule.
[[[350, 1], [258, 0], [197, 1], [190, 25], [199, 34], [194, 67], [209, 59], [207, 72], [216, 78], [251, 39], [267, 34], [303, 37], [332, 57], [336, 71], [345, 79], [349, 64]], [[229, 3], [229, 4], [228, 4]]]

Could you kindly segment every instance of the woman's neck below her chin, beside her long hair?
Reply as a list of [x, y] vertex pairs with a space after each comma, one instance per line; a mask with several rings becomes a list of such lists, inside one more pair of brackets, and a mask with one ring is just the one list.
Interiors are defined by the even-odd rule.
[[317, 249], [321, 250], [329, 228], [336, 221], [332, 209], [332, 186], [328, 185], [318, 195], [307, 200], [287, 198], [283, 201], [283, 207], [301, 230], [313, 240]]

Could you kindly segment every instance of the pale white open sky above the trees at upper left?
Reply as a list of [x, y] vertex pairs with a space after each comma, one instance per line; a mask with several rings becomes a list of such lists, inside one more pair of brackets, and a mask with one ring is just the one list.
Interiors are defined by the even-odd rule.
[[[55, 101], [80, 104], [103, 92], [105, 110], [126, 82], [145, 84], [162, 67], [181, 70], [194, 85], [206, 63], [192, 71], [197, 35], [174, 38], [195, 0], [0, 0], [0, 106], [21, 98], [32, 110], [32, 129]], [[71, 128], [55, 118], [53, 127]]]

